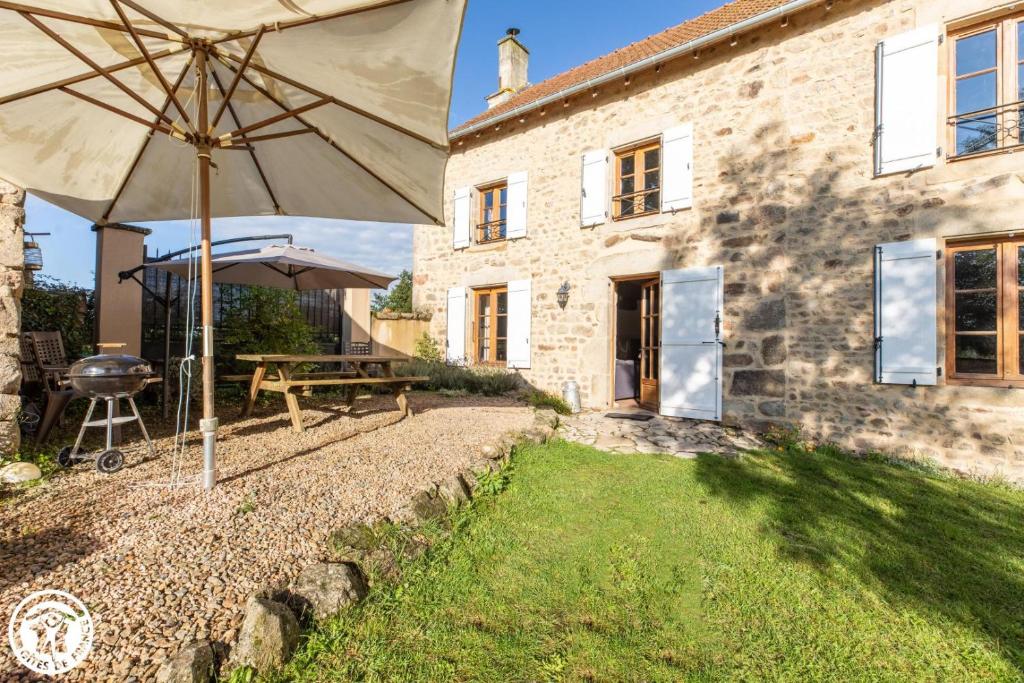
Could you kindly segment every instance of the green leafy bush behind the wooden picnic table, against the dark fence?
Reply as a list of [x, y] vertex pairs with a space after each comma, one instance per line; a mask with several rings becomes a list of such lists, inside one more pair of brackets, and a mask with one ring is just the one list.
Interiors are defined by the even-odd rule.
[[316, 333], [299, 307], [292, 290], [250, 287], [238, 305], [221, 319], [216, 356], [218, 372], [246, 373], [252, 364], [234, 359], [238, 353], [316, 353]]

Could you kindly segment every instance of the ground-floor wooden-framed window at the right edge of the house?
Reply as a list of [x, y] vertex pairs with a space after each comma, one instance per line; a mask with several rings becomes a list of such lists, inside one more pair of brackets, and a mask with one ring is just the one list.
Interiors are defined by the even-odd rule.
[[946, 249], [946, 373], [953, 383], [1024, 386], [1024, 238]]

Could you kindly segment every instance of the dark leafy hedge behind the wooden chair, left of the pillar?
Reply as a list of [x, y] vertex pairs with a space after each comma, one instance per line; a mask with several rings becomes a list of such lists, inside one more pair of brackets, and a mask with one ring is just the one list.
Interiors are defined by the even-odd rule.
[[34, 287], [22, 296], [22, 329], [59, 331], [69, 359], [92, 355], [95, 304], [92, 290], [37, 273]]

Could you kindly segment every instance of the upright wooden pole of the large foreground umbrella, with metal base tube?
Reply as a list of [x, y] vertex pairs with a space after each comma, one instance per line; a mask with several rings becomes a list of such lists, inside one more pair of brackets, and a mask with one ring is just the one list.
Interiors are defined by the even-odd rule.
[[199, 69], [199, 121], [197, 130], [200, 138], [197, 140], [196, 154], [199, 157], [199, 204], [202, 226], [201, 242], [201, 273], [203, 307], [203, 419], [200, 421], [200, 431], [203, 432], [203, 487], [213, 488], [217, 482], [217, 417], [213, 404], [213, 255], [211, 253], [210, 226], [210, 138], [209, 113], [207, 110], [206, 60], [207, 46], [196, 47], [196, 66]]

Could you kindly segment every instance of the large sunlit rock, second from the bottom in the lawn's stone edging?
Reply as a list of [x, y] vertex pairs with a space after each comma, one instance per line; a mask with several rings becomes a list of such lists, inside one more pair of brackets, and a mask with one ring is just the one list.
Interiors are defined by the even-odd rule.
[[252, 597], [231, 650], [231, 666], [258, 672], [275, 669], [288, 661], [298, 644], [299, 622], [292, 610], [280, 602]]

